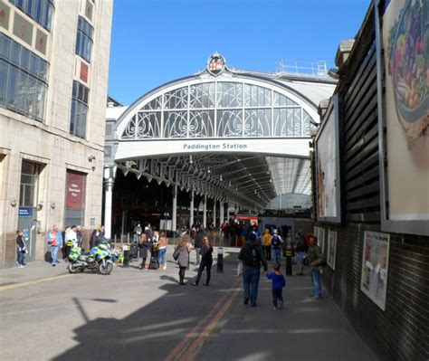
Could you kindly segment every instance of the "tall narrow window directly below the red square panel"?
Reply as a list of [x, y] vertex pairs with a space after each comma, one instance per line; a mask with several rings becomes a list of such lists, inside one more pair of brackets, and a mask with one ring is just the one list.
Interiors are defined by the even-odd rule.
[[70, 134], [85, 138], [88, 117], [88, 98], [90, 90], [79, 81], [73, 81], [71, 94]]

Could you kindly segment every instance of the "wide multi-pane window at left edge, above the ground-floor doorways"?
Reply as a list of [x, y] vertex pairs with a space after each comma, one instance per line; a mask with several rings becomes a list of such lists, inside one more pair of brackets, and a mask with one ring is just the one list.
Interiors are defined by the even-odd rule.
[[49, 64], [0, 33], [0, 106], [43, 121]]

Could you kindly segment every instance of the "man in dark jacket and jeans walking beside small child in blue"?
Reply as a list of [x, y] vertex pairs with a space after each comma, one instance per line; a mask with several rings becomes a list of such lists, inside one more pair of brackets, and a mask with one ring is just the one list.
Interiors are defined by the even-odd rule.
[[251, 306], [255, 307], [256, 299], [258, 298], [261, 263], [263, 271], [267, 271], [268, 267], [262, 246], [256, 242], [254, 233], [249, 236], [249, 241], [243, 245], [238, 259], [243, 261], [244, 305], [248, 305], [250, 299]]

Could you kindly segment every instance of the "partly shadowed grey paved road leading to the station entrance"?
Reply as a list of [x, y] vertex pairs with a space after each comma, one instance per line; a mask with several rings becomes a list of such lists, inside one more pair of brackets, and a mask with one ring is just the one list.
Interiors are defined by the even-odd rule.
[[[272, 309], [260, 281], [258, 306], [243, 305], [238, 250], [224, 248], [224, 272], [209, 287], [186, 286], [168, 247], [166, 271], [116, 266], [110, 276], [69, 275], [65, 263], [35, 261], [0, 271], [0, 360], [376, 360], [310, 276], [287, 277], [285, 309]], [[284, 260], [282, 260], [284, 261]], [[283, 263], [284, 270], [284, 263]], [[308, 270], [306, 270], [308, 271]]]

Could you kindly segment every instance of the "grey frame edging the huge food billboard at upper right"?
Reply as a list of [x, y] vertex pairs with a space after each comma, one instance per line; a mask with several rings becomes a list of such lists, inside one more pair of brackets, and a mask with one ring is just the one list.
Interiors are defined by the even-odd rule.
[[383, 55], [382, 42], [382, 16], [384, 11], [380, 11], [381, 6], [385, 5], [384, 0], [375, 2], [375, 21], [376, 21], [376, 52], [377, 52], [377, 115], [378, 115], [378, 162], [380, 177], [380, 218], [381, 230], [393, 233], [410, 233], [429, 236], [429, 221], [427, 220], [401, 220], [393, 221], [389, 219], [387, 204], [388, 196], [388, 178], [387, 178], [387, 152], [388, 147], [386, 139], [386, 100], [384, 95], [384, 71], [386, 71]]

